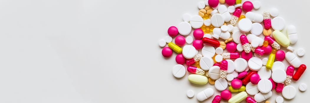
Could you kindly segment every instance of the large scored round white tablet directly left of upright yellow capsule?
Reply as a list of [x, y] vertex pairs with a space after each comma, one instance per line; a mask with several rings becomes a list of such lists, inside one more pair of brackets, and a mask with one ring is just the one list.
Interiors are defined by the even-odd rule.
[[250, 58], [248, 65], [250, 67], [250, 70], [258, 71], [262, 67], [263, 62], [260, 58], [252, 57]]

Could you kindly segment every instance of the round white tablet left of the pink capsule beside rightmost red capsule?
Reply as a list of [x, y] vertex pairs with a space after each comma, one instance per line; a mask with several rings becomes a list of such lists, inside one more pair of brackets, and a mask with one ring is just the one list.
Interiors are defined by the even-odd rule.
[[286, 72], [281, 69], [272, 71], [271, 78], [276, 83], [282, 83], [286, 79]]

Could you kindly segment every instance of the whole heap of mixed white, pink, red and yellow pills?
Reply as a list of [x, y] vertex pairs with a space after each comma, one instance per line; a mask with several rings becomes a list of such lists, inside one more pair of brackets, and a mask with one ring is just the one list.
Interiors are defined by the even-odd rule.
[[[298, 40], [296, 28], [286, 26], [276, 8], [255, 13], [251, 11], [260, 8], [259, 1], [241, 4], [241, 0], [205, 0], [198, 3], [198, 8], [197, 15], [184, 14], [183, 22], [168, 28], [169, 36], [159, 41], [163, 57], [177, 54], [172, 69], [176, 78], [182, 78], [187, 71], [189, 82], [205, 85], [209, 81], [221, 91], [215, 95], [212, 88], [206, 88], [197, 93], [198, 101], [213, 98], [212, 103], [263, 102], [275, 89], [283, 97], [269, 101], [283, 103], [283, 98], [295, 97], [296, 88], [306, 91], [306, 84], [290, 85], [307, 68], [299, 60], [305, 50], [294, 53], [290, 44]], [[193, 37], [189, 36], [192, 28]], [[281, 32], [284, 28], [287, 34]], [[284, 60], [290, 66], [285, 67]], [[232, 96], [231, 92], [239, 93]], [[187, 91], [189, 98], [194, 95], [194, 91]]]

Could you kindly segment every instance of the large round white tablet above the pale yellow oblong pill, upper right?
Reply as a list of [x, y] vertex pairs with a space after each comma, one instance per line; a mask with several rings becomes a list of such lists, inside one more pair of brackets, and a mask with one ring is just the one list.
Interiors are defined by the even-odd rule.
[[285, 27], [285, 21], [281, 17], [275, 17], [271, 20], [271, 27], [273, 30], [283, 30]]

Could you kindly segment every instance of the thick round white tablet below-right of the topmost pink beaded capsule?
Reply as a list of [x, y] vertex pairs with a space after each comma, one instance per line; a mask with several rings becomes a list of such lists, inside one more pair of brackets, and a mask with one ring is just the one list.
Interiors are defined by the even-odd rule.
[[252, 29], [252, 21], [248, 18], [239, 20], [238, 27], [241, 32], [249, 32]]

